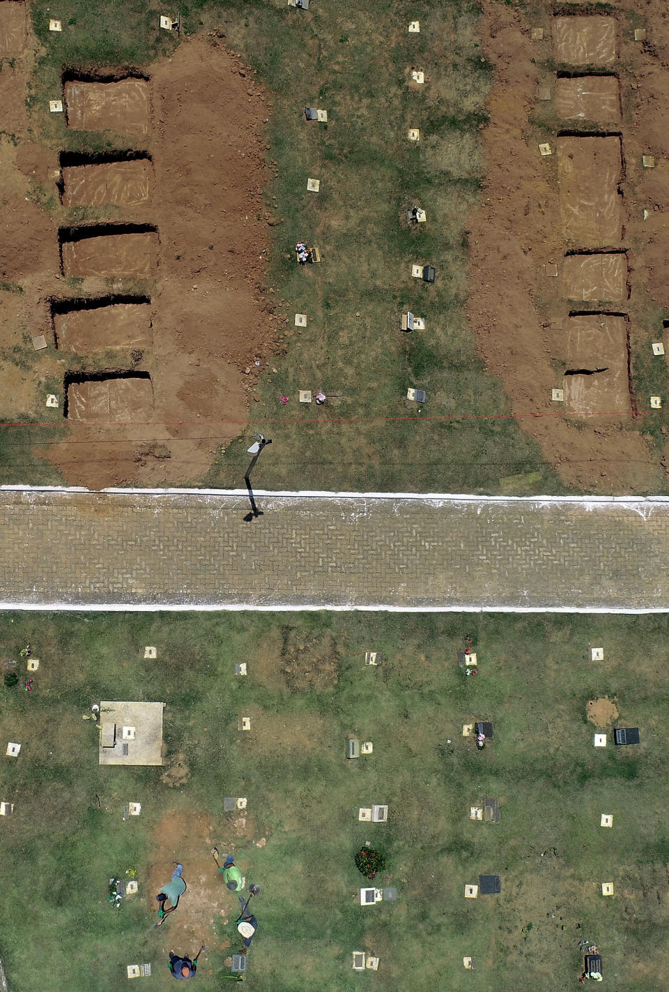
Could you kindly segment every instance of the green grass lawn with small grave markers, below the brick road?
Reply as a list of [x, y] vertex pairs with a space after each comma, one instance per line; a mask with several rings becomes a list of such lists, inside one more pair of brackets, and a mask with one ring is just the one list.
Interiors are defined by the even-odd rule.
[[[30, 640], [41, 660], [32, 692], [0, 686], [3, 751], [8, 740], [23, 745], [0, 772], [0, 799], [15, 803], [0, 820], [0, 956], [10, 987], [46, 988], [56, 971], [72, 990], [125, 988], [125, 965], [144, 961], [168, 978], [170, 931], [152, 929], [147, 872], [173, 817], [216, 824], [213, 841], [225, 850], [228, 795], [247, 797], [255, 824], [235, 848], [247, 879], [262, 886], [250, 989], [357, 989], [363, 980], [406, 992], [568, 989], [582, 967], [581, 938], [600, 946], [618, 992], [665, 987], [667, 624], [2, 614], [2, 658], [18, 659]], [[480, 672], [469, 679], [456, 661], [468, 634]], [[143, 660], [146, 644], [158, 647], [158, 661]], [[588, 660], [589, 645], [604, 647], [604, 662]], [[383, 653], [380, 668], [364, 666], [366, 650]], [[234, 675], [241, 660], [246, 678]], [[640, 727], [640, 747], [614, 748], [611, 726], [609, 747], [593, 747], [587, 702], [605, 695], [617, 725]], [[101, 698], [166, 701], [165, 760], [179, 754], [187, 782], [170, 788], [158, 768], [100, 768], [97, 730], [81, 716]], [[248, 733], [238, 730], [241, 715], [252, 717]], [[481, 753], [462, 737], [474, 718], [495, 723]], [[349, 733], [373, 741], [373, 755], [347, 762]], [[500, 800], [500, 824], [470, 820], [469, 807], [486, 796]], [[124, 822], [128, 800], [143, 811]], [[374, 803], [388, 803], [388, 823], [358, 821], [359, 806]], [[600, 827], [603, 812], [613, 813], [612, 830]], [[353, 856], [368, 839], [388, 857], [380, 883], [396, 887], [397, 899], [361, 908]], [[130, 867], [140, 894], [115, 911], [108, 878]], [[485, 873], [501, 875], [501, 895], [465, 900], [465, 885]], [[613, 898], [600, 895], [602, 882], [613, 882]], [[191, 912], [184, 898], [168, 926]], [[214, 931], [202, 989], [227, 985], [226, 941], [237, 943], [232, 921], [217, 919]], [[356, 974], [353, 950], [376, 952], [379, 972]], [[463, 967], [469, 954], [474, 972]]]

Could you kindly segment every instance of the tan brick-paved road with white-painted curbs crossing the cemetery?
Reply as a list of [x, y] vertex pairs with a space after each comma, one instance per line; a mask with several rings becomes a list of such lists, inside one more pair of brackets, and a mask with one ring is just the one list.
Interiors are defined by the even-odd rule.
[[0, 602], [669, 610], [669, 502], [0, 491]]

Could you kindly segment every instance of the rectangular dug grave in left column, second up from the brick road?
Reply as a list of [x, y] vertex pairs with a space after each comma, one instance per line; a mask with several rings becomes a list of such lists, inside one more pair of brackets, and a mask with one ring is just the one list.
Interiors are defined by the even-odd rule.
[[122, 299], [123, 303], [109, 297], [53, 301], [57, 350], [85, 355], [112, 348], [152, 347], [151, 301], [146, 297]]

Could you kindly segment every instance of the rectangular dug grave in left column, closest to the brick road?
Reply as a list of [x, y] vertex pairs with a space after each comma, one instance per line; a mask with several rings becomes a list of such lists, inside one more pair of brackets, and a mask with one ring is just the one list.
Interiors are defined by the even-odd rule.
[[68, 372], [63, 416], [86, 424], [140, 423], [154, 415], [148, 372]]

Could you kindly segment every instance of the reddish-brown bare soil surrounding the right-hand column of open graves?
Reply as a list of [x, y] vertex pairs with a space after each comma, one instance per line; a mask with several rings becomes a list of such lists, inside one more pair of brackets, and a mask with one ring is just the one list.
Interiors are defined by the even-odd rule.
[[[629, 313], [633, 370], [639, 349], [657, 339], [640, 330], [635, 307], [646, 294], [654, 303], [669, 306], [669, 217], [662, 212], [669, 207], [669, 171], [641, 168], [642, 154], [661, 160], [669, 153], [669, 33], [660, 9], [631, 0], [620, 7], [611, 20], [622, 106], [620, 189], [631, 289], [624, 310]], [[564, 235], [555, 150], [557, 130], [569, 129], [571, 122], [559, 118], [552, 100], [538, 99], [540, 88], [553, 95], [555, 91], [555, 74], [539, 68], [555, 57], [551, 41], [555, 19], [547, 4], [531, 23], [498, 0], [485, 0], [483, 8], [481, 34], [494, 80], [487, 105], [490, 124], [482, 131], [487, 162], [483, 205], [470, 222], [468, 305], [480, 352], [489, 370], [501, 379], [518, 423], [539, 442], [565, 483], [592, 492], [652, 491], [663, 468], [641, 435], [635, 401], [628, 414], [623, 408], [619, 415], [588, 416], [577, 422], [566, 419], [564, 408], [551, 402], [551, 390], [562, 386], [567, 367], [566, 331], [573, 307], [562, 291], [562, 262], [569, 249], [593, 247], [575, 246]], [[632, 25], [641, 24], [651, 41], [634, 43]], [[535, 27], [544, 29], [543, 40], [530, 39]], [[605, 46], [608, 60], [610, 41]], [[578, 39], [577, 43], [581, 44]], [[547, 139], [536, 120], [545, 120], [553, 129], [550, 157], [539, 155], [537, 146]], [[588, 122], [586, 127], [592, 131], [595, 124]], [[572, 126], [578, 130], [583, 125], [576, 119]], [[645, 224], [644, 208], [652, 214]], [[555, 266], [560, 278], [546, 278]], [[585, 309], [597, 308], [592, 304]], [[651, 333], [659, 331], [655, 328]], [[645, 411], [647, 399], [640, 397], [638, 406]]]

